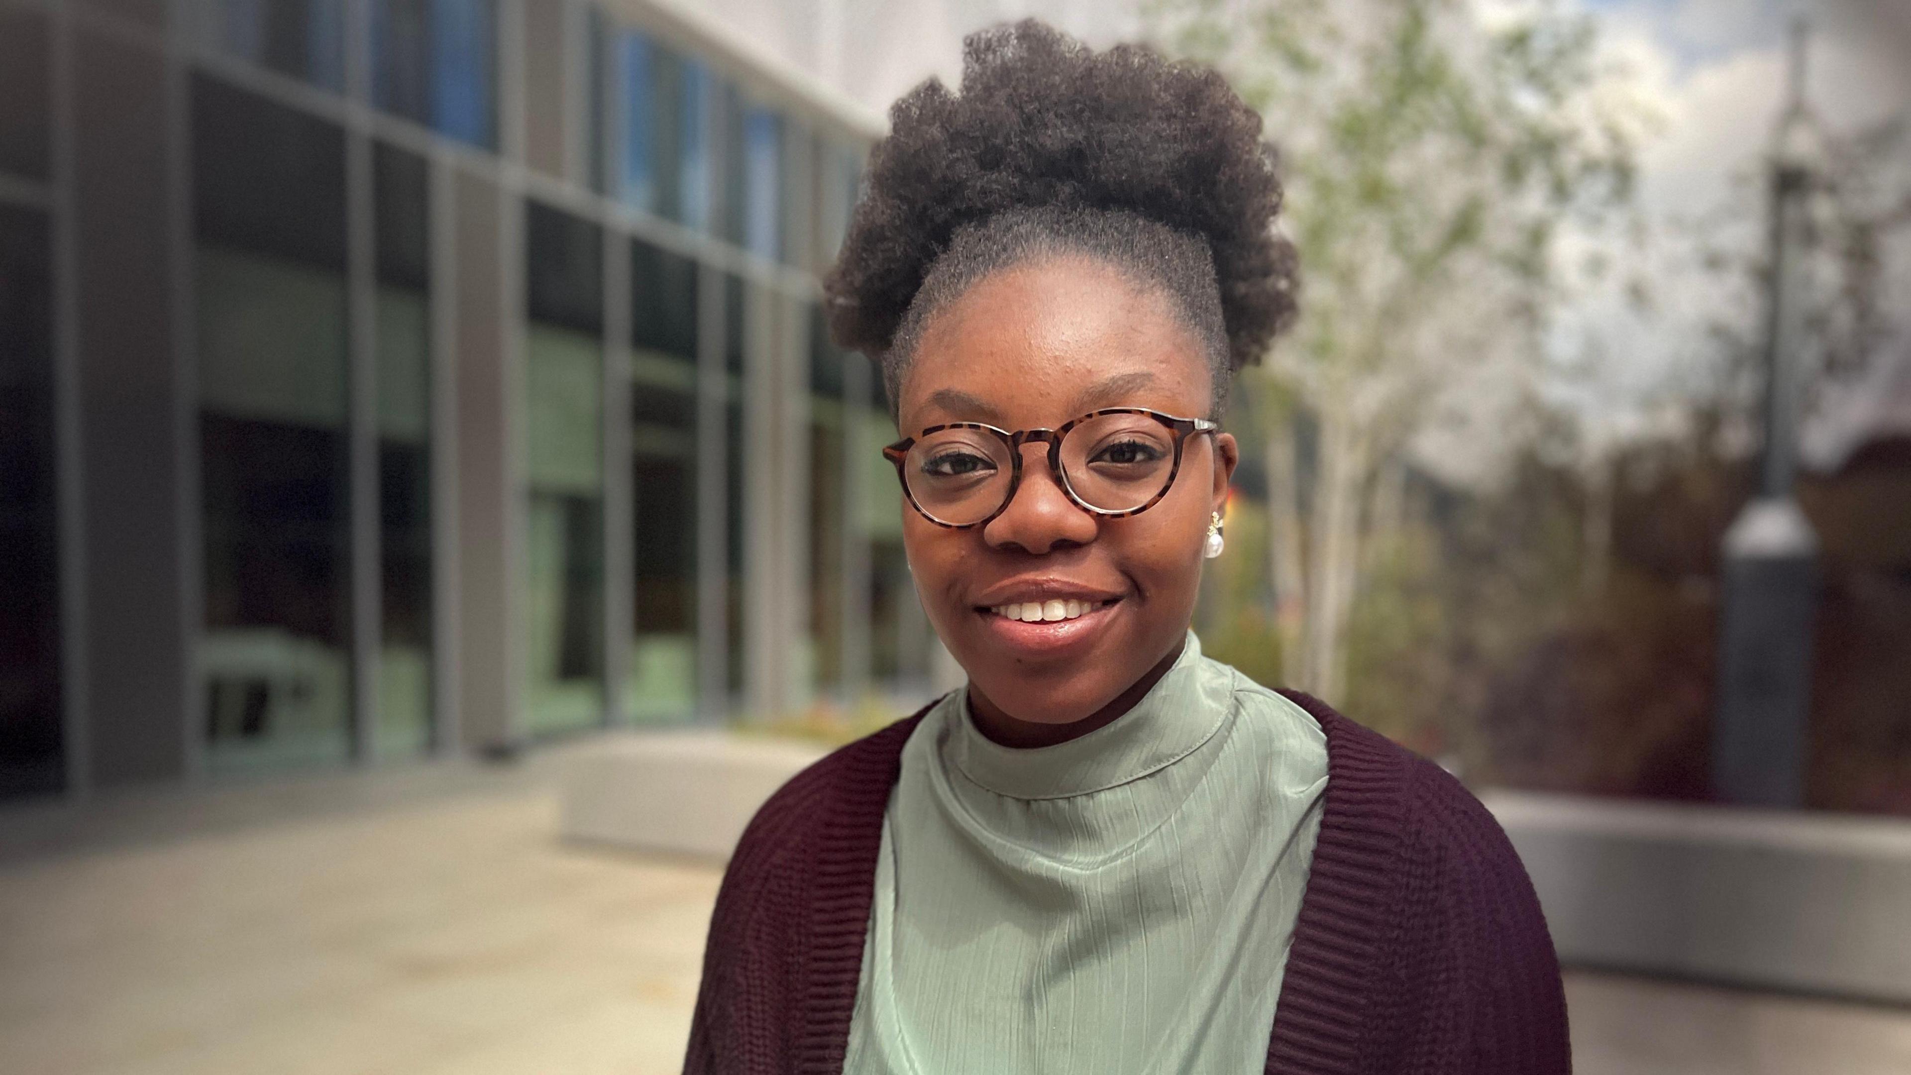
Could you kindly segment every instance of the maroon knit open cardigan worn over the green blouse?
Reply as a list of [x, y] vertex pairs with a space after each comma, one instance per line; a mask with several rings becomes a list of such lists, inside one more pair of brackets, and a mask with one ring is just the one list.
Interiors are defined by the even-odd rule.
[[[1321, 721], [1328, 779], [1267, 1071], [1571, 1071], [1552, 937], [1492, 815], [1431, 761], [1284, 694]], [[717, 893], [686, 1075], [843, 1071], [883, 809], [921, 715], [805, 769], [749, 823]]]

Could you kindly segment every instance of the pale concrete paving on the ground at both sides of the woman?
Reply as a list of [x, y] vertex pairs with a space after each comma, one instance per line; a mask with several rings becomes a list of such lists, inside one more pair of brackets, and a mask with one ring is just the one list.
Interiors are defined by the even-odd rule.
[[[676, 1071], [720, 872], [558, 842], [550, 773], [0, 817], [0, 1071]], [[1911, 1010], [1600, 974], [1567, 997], [1580, 1075], [1911, 1071]]]

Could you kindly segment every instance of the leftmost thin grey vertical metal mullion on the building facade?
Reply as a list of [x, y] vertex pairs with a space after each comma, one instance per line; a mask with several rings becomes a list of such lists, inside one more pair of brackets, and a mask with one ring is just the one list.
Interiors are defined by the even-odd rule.
[[86, 474], [80, 438], [78, 251], [73, 161], [73, 21], [67, 6], [48, 11], [48, 99], [52, 115], [52, 275], [54, 275], [54, 497], [59, 587], [59, 750], [69, 801], [92, 794], [92, 725], [86, 647]]

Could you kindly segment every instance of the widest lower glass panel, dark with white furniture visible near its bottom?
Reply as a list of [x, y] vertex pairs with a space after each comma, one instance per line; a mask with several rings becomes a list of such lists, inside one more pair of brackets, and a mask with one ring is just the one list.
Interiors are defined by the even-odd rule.
[[208, 757], [344, 759], [344, 136], [193, 82]]

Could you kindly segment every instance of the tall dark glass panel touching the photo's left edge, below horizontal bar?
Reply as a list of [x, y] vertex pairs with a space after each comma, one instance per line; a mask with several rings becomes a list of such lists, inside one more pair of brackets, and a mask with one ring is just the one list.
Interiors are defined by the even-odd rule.
[[0, 205], [0, 800], [65, 784], [46, 216]]

